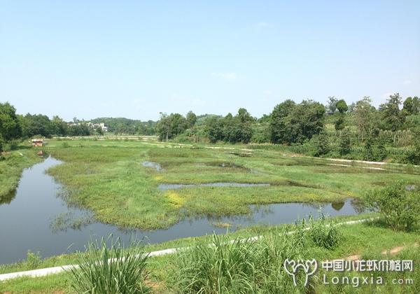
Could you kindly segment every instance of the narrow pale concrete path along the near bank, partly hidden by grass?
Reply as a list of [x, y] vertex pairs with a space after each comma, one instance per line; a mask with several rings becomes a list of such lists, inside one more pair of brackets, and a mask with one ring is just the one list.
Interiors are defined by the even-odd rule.
[[[372, 221], [374, 220], [374, 218], [364, 218], [361, 220], [357, 220], [357, 221], [346, 221], [344, 223], [337, 223], [337, 225], [353, 225], [355, 223], [363, 223], [365, 221]], [[307, 230], [309, 228], [306, 228]], [[288, 232], [288, 235], [293, 234], [294, 231], [292, 232]], [[255, 237], [249, 237], [246, 238], [248, 240], [251, 241], [255, 241], [260, 239], [261, 236], [255, 236]], [[148, 253], [149, 256], [153, 257], [153, 256], [160, 256], [160, 255], [166, 255], [166, 254], [173, 254], [176, 253], [176, 251], [180, 251], [180, 250], [184, 250], [187, 249], [189, 247], [181, 247], [181, 248], [168, 248], [168, 249], [163, 249], [163, 250], [159, 250], [159, 251], [152, 251], [150, 253]], [[0, 281], [6, 281], [8, 279], [15, 279], [15, 278], [19, 278], [22, 276], [30, 276], [30, 277], [36, 277], [36, 276], [47, 276], [48, 274], [59, 274], [60, 272], [65, 272], [65, 271], [69, 271], [70, 269], [75, 269], [77, 268], [78, 265], [62, 265], [59, 267], [47, 267], [44, 269], [33, 269], [33, 270], [28, 270], [25, 272], [12, 272], [10, 274], [0, 274]]]

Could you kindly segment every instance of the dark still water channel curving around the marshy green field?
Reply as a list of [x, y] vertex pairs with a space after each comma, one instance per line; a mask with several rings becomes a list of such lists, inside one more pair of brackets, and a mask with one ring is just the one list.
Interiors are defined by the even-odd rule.
[[[61, 190], [45, 169], [59, 164], [47, 158], [25, 169], [14, 195], [0, 200], [0, 263], [16, 262], [27, 256], [27, 251], [39, 251], [43, 257], [83, 250], [85, 244], [101, 237], [120, 237], [126, 244], [133, 235], [147, 237], [149, 243], [159, 243], [182, 237], [196, 237], [212, 232], [223, 233], [215, 223], [237, 225], [293, 223], [297, 218], [317, 215], [317, 204], [269, 204], [252, 206], [250, 216], [222, 218], [188, 218], [167, 230], [121, 230], [113, 225], [97, 223], [89, 211], [69, 207], [57, 197]], [[351, 200], [335, 204], [321, 204], [330, 216], [356, 214]], [[232, 230], [232, 229], [231, 229]]]

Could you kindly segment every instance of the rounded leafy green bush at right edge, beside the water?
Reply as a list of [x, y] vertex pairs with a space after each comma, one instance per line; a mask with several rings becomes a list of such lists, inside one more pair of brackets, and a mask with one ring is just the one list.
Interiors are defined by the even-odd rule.
[[419, 222], [420, 193], [418, 188], [404, 181], [396, 181], [385, 188], [370, 191], [365, 205], [371, 211], [378, 211], [393, 230], [412, 230]]

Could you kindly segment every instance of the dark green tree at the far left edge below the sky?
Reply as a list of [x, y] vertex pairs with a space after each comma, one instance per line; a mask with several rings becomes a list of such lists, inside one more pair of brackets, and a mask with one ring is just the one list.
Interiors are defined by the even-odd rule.
[[[22, 136], [22, 128], [16, 109], [8, 102], [0, 103], [0, 145], [1, 141], [6, 142], [18, 139]], [[0, 146], [2, 150], [2, 146]]]

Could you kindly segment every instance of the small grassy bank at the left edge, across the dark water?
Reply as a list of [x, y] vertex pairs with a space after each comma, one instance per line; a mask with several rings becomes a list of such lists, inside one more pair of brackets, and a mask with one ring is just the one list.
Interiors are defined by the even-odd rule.
[[16, 150], [3, 153], [4, 159], [0, 160], [0, 204], [11, 201], [22, 170], [41, 162], [42, 158], [36, 155], [37, 152], [35, 148], [18, 146]]

